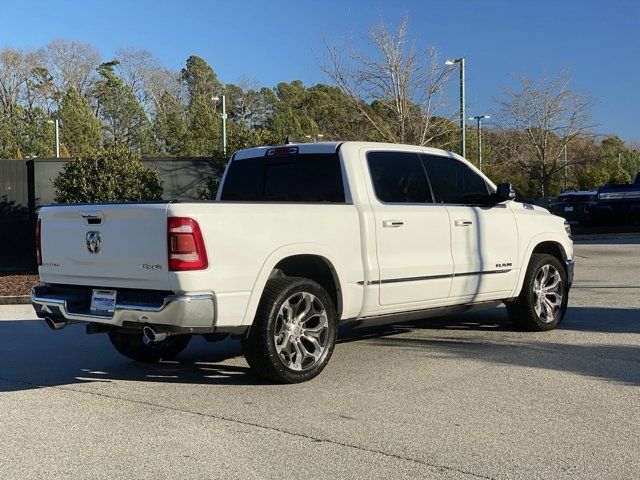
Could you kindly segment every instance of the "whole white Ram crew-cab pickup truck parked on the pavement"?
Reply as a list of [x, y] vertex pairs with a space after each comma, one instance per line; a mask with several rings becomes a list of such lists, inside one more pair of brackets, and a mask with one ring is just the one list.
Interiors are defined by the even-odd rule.
[[242, 339], [279, 382], [316, 376], [340, 323], [507, 305], [529, 330], [561, 322], [573, 244], [560, 217], [513, 201], [460, 156], [323, 142], [242, 150], [213, 202], [40, 210], [38, 316], [84, 322], [138, 361], [194, 334]]

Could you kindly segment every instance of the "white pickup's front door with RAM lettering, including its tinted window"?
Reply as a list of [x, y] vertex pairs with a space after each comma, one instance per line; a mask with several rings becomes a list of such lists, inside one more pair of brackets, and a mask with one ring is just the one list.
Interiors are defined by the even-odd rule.
[[461, 301], [500, 298], [515, 284], [518, 231], [507, 204], [483, 206], [485, 180], [455, 158], [423, 155], [435, 200], [450, 218], [454, 276], [450, 296]]

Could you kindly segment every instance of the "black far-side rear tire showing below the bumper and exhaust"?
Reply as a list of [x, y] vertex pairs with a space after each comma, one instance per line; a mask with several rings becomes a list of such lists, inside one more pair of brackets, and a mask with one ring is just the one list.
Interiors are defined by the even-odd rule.
[[109, 340], [118, 352], [136, 362], [154, 363], [178, 356], [188, 345], [191, 335], [171, 335], [161, 342], [145, 342], [142, 333], [109, 332]]

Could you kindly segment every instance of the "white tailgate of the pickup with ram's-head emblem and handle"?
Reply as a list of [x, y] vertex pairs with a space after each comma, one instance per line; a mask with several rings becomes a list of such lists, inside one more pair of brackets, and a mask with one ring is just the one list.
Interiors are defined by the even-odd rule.
[[39, 218], [45, 283], [170, 289], [166, 203], [50, 206]]

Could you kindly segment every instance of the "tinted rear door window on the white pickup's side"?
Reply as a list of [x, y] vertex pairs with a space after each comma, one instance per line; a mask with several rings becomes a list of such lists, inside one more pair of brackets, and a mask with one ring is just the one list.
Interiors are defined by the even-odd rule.
[[417, 153], [369, 152], [367, 163], [379, 200], [387, 203], [431, 203], [431, 190]]

